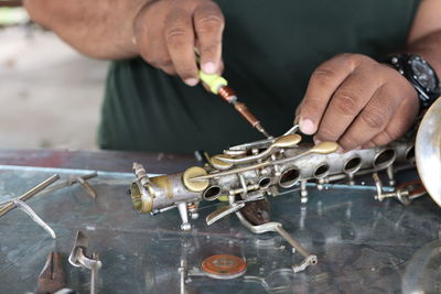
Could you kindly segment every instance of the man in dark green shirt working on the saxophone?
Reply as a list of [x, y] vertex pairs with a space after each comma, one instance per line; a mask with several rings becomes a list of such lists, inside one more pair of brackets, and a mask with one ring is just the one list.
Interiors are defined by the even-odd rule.
[[261, 138], [196, 86], [194, 47], [205, 73], [225, 66], [239, 99], [275, 135], [292, 126], [297, 109], [301, 131], [315, 141], [337, 141], [342, 150], [381, 145], [433, 100], [421, 100], [424, 92], [409, 78], [415, 73], [406, 78], [381, 61], [421, 56], [431, 67], [418, 76], [435, 80], [439, 0], [216, 2], [26, 0], [25, 7], [79, 52], [117, 61], [103, 107], [105, 149], [189, 153]]

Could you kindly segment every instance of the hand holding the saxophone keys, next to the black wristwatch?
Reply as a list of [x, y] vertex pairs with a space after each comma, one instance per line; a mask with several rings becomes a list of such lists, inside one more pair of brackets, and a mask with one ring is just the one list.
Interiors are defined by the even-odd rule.
[[402, 135], [418, 115], [411, 84], [396, 69], [361, 54], [342, 54], [312, 74], [298, 108], [300, 130], [315, 142], [343, 150], [386, 144]]

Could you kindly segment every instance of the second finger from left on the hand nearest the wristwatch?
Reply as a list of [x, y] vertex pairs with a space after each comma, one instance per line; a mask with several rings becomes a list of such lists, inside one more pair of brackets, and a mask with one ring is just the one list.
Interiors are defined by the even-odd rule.
[[379, 85], [375, 76], [354, 72], [332, 96], [315, 134], [320, 141], [337, 141], [367, 105]]

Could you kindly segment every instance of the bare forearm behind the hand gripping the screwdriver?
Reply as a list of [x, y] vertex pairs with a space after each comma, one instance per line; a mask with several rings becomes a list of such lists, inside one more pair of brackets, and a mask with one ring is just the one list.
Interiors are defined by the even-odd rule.
[[133, 20], [151, 0], [26, 0], [31, 19], [54, 31], [80, 53], [118, 59], [138, 55]]

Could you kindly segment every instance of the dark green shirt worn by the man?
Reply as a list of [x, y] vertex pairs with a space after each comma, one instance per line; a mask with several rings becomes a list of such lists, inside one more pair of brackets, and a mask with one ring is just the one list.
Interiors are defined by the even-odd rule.
[[[218, 0], [224, 76], [273, 135], [290, 127], [311, 73], [338, 53], [374, 58], [406, 44], [419, 0]], [[141, 58], [114, 62], [103, 149], [218, 152], [262, 139], [234, 108]]]

